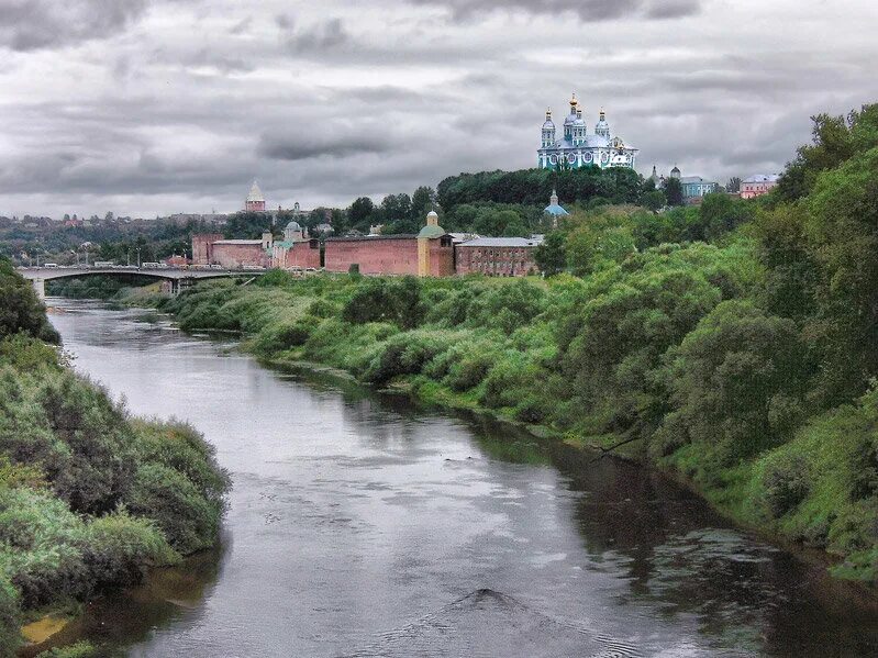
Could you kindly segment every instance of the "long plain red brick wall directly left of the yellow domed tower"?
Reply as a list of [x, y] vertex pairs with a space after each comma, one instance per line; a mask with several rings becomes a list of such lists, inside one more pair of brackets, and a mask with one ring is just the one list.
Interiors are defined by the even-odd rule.
[[418, 239], [415, 237], [327, 239], [324, 260], [326, 271], [346, 272], [351, 265], [356, 263], [359, 265], [360, 274], [364, 275], [418, 276]]

